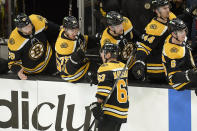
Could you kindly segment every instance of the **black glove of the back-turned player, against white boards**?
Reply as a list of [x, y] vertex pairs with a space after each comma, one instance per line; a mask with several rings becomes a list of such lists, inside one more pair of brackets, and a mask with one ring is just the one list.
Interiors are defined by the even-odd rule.
[[97, 120], [103, 119], [103, 110], [101, 108], [101, 103], [93, 102], [92, 104], [90, 104], [90, 110], [92, 111], [95, 119]]

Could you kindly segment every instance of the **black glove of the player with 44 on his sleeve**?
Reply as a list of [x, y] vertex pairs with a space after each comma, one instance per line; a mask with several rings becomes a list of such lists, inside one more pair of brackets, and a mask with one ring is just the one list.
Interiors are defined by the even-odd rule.
[[132, 74], [137, 80], [145, 80], [145, 63], [143, 61], [136, 61], [132, 67]]

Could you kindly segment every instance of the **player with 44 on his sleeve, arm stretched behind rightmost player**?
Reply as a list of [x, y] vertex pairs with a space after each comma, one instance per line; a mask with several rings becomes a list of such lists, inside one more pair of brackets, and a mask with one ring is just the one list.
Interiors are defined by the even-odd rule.
[[[165, 81], [164, 68], [162, 66], [161, 52], [164, 41], [169, 35], [167, 23], [176, 18], [170, 12], [168, 0], [152, 0], [152, 8], [156, 17], [146, 26], [143, 41], [138, 43], [136, 62], [133, 66], [133, 74], [137, 79], [144, 80], [145, 74], [151, 81]], [[185, 14], [178, 16], [186, 21], [192, 20], [192, 13], [196, 6], [191, 7]]]

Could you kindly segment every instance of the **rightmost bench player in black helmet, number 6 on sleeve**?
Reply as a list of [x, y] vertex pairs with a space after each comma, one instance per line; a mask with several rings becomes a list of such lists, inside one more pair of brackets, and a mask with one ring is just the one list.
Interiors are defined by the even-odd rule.
[[187, 43], [187, 26], [175, 18], [169, 22], [168, 30], [162, 62], [169, 85], [176, 90], [196, 88], [197, 70]]

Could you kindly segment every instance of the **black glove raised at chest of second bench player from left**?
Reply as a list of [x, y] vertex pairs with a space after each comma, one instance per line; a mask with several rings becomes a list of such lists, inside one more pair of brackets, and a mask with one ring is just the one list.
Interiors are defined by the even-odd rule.
[[74, 64], [80, 64], [83, 62], [84, 59], [85, 59], [85, 53], [83, 52], [82, 49], [77, 50], [71, 55], [71, 61]]

